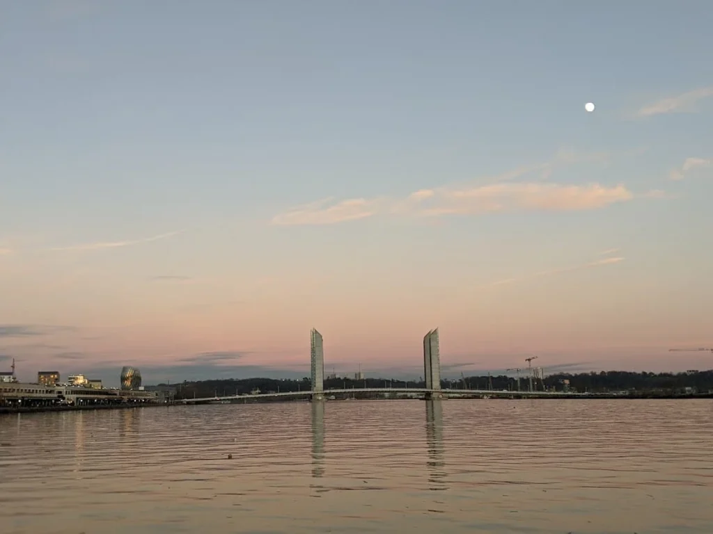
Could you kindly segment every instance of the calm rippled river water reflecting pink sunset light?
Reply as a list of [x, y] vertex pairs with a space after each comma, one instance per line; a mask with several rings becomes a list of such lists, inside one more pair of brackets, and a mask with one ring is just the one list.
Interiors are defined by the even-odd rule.
[[704, 400], [21, 414], [0, 445], [4, 534], [713, 532]]

